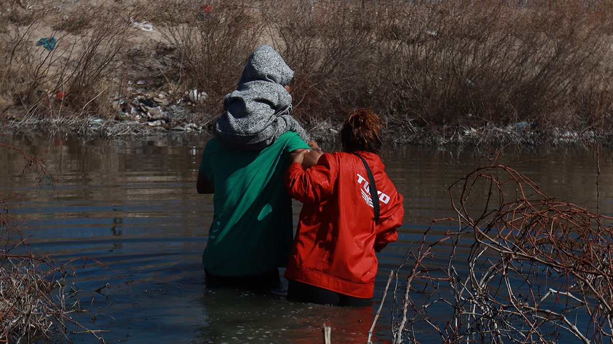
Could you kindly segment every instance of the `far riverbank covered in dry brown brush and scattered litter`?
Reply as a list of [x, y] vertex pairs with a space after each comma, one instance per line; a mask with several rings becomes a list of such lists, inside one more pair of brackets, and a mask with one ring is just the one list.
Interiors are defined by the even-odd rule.
[[141, 140], [210, 130], [246, 58], [294, 69], [319, 141], [372, 108], [391, 144], [611, 141], [606, 3], [18, 1], [0, 5], [3, 135]]

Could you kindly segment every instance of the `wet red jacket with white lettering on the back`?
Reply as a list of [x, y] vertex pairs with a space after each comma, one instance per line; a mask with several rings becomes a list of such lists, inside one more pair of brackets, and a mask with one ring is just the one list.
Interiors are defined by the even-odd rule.
[[368, 174], [354, 154], [324, 154], [304, 170], [292, 163], [284, 176], [291, 195], [303, 203], [287, 279], [354, 297], [373, 297], [378, 252], [398, 237], [403, 197], [387, 177], [379, 156], [358, 152], [373, 171], [380, 215], [375, 225]]

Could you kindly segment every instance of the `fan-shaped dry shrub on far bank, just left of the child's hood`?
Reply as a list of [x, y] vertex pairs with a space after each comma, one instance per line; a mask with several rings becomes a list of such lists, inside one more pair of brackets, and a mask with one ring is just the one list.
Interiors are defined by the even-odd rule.
[[206, 92], [202, 107], [217, 113], [224, 96], [234, 90], [243, 67], [261, 43], [262, 23], [244, 1], [207, 1], [178, 4], [188, 8], [185, 24], [164, 23], [162, 31], [173, 44], [180, 61], [183, 91]]

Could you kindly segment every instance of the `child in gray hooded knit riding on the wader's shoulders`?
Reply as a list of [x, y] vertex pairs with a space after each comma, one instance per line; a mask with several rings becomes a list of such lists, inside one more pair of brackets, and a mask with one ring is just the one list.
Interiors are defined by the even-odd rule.
[[230, 148], [254, 151], [292, 131], [308, 143], [307, 131], [289, 114], [292, 95], [284, 86], [292, 77], [294, 71], [272, 47], [253, 51], [237, 89], [224, 99], [225, 112], [213, 125], [218, 140]]

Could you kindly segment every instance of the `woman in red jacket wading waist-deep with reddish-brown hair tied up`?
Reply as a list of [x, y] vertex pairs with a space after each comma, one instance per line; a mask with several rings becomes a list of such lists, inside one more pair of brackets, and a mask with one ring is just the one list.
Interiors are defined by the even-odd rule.
[[305, 155], [317, 153], [292, 154], [284, 176], [289, 195], [303, 203], [285, 272], [290, 301], [372, 305], [375, 252], [395, 241], [402, 225], [403, 197], [377, 155], [379, 117], [368, 110], [349, 114], [341, 143], [343, 152], [323, 154], [306, 169]]

